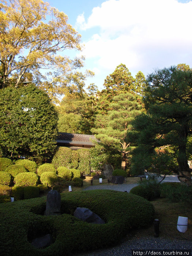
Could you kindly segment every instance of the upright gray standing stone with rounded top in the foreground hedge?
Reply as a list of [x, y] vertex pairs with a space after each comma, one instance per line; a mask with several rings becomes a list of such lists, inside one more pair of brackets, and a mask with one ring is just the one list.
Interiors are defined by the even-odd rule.
[[61, 214], [61, 195], [56, 190], [49, 191], [46, 201], [45, 215]]

